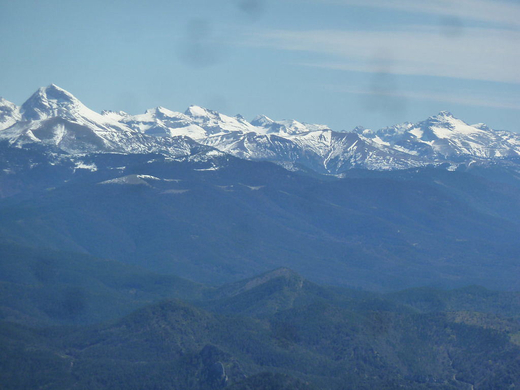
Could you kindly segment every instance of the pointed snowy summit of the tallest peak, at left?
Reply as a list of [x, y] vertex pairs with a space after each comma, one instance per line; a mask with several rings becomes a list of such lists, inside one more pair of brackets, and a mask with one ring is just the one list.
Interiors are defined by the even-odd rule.
[[24, 120], [40, 120], [54, 116], [68, 117], [70, 111], [79, 111], [85, 106], [67, 90], [50, 84], [38, 89], [21, 107]]

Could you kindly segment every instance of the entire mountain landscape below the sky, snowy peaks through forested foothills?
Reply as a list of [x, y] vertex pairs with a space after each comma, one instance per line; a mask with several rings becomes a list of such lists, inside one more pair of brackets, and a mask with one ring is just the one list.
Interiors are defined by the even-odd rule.
[[0, 387], [516, 388], [519, 140], [0, 99]]

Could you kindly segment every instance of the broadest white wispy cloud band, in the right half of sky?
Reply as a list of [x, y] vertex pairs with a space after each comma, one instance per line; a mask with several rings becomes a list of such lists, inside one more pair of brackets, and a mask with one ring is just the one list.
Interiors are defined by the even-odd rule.
[[265, 30], [245, 44], [310, 54], [307, 66], [520, 83], [520, 31], [466, 28], [447, 38], [426, 26], [392, 31]]

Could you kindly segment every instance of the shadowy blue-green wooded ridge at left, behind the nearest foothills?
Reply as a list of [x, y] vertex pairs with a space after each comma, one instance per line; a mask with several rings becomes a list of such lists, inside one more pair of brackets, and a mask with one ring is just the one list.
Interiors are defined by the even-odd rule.
[[0, 242], [0, 319], [7, 321], [89, 324], [164, 298], [194, 300], [211, 290], [85, 254]]

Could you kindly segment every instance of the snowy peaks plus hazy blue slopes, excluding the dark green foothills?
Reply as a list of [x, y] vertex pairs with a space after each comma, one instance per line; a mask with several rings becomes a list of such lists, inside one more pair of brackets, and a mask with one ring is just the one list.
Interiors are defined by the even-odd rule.
[[55, 85], [0, 104], [0, 242], [204, 283], [284, 266], [373, 291], [518, 289], [515, 133], [447, 112], [350, 133], [196, 106], [98, 114]]

